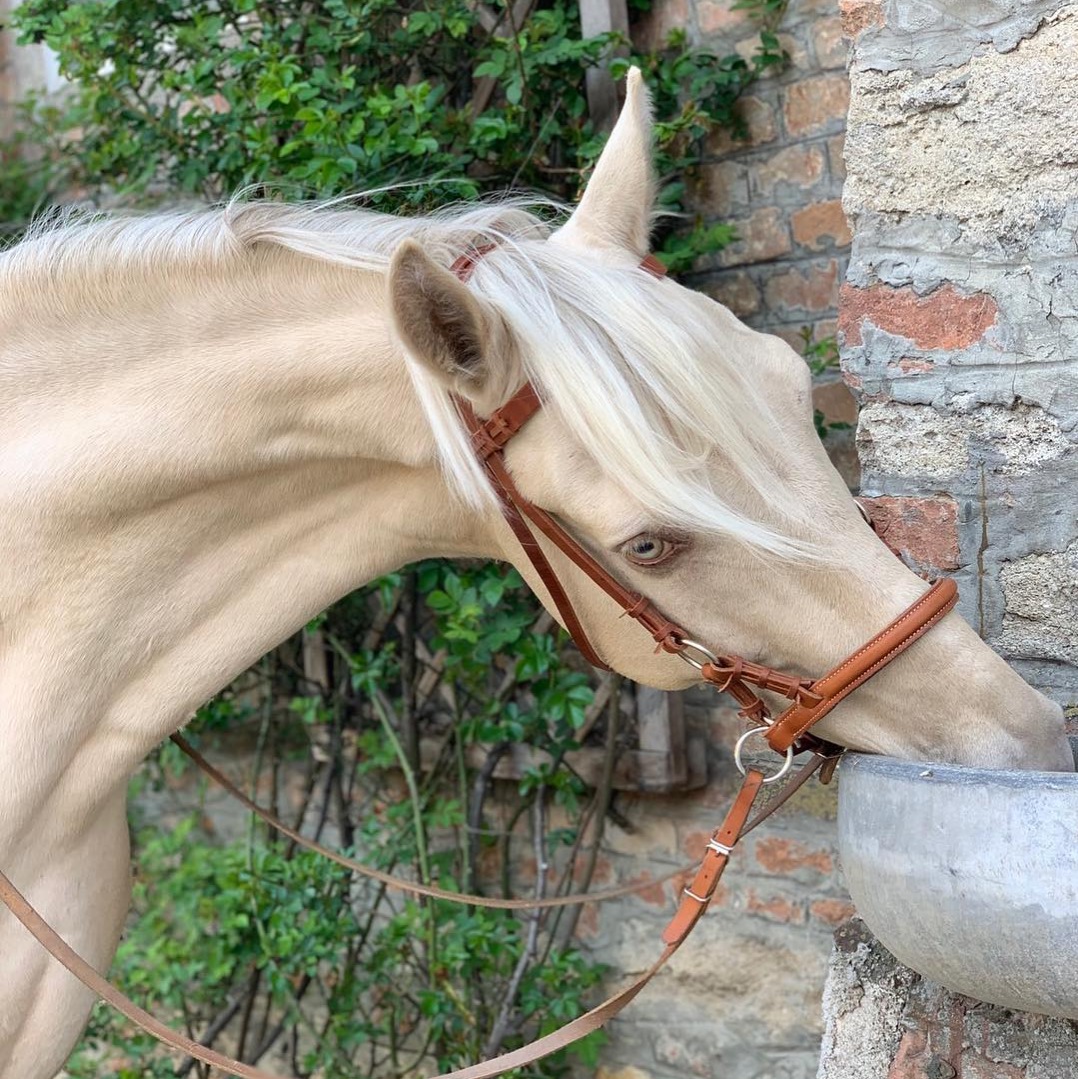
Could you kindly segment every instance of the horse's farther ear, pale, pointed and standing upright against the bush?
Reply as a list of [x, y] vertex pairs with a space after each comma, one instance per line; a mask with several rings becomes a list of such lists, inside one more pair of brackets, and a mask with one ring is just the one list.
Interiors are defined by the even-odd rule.
[[650, 248], [654, 202], [651, 101], [640, 69], [630, 68], [622, 114], [579, 206], [554, 238], [628, 250], [639, 261]]

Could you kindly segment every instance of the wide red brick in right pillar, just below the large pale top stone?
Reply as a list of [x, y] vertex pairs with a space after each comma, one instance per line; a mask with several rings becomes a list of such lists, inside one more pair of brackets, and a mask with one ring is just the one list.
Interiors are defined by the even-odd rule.
[[963, 296], [944, 285], [925, 296], [911, 287], [844, 285], [838, 303], [838, 328], [847, 344], [861, 343], [861, 324], [908, 338], [926, 352], [968, 349], [996, 323], [999, 309], [987, 292]]

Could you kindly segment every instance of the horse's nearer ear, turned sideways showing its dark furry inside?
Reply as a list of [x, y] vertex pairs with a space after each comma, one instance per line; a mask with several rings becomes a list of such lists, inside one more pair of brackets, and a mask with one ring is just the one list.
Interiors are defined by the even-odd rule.
[[516, 350], [491, 304], [413, 240], [394, 252], [387, 289], [394, 328], [413, 359], [473, 400], [504, 392]]

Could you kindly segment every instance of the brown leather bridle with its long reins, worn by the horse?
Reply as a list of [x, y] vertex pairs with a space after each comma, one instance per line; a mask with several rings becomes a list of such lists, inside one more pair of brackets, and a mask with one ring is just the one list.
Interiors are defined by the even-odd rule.
[[[452, 265], [453, 273], [466, 282], [476, 262], [492, 249], [493, 246], [480, 246], [461, 256]], [[654, 256], [644, 259], [640, 263], [640, 269], [656, 277], [665, 276], [666, 272]], [[743, 776], [741, 789], [725, 819], [712, 833], [704, 859], [692, 876], [691, 883], [682, 889], [678, 909], [661, 934], [664, 948], [652, 966], [626, 988], [551, 1034], [493, 1060], [455, 1071], [444, 1073], [435, 1079], [488, 1079], [488, 1077], [501, 1075], [510, 1068], [524, 1067], [586, 1037], [622, 1011], [684, 943], [697, 920], [707, 910], [738, 841], [775, 812], [814, 774], [819, 773], [824, 782], [830, 780], [843, 749], [811, 735], [809, 733], [811, 726], [854, 689], [886, 667], [939, 623], [952, 610], [958, 597], [953, 581], [945, 578], [936, 582], [919, 600], [895, 618], [872, 640], [818, 679], [788, 674], [752, 663], [741, 656], [712, 652], [707, 645], [694, 641], [677, 623], [668, 619], [646, 597], [626, 588], [550, 514], [521, 495], [506, 467], [504, 450], [513, 436], [542, 408], [542, 404], [540, 394], [531, 383], [521, 386], [505, 405], [485, 420], [476, 415], [467, 401], [462, 398], [456, 399], [462, 421], [470, 435], [475, 452], [486, 468], [491, 486], [499, 496], [505, 519], [549, 592], [565, 628], [581, 652], [596, 667], [609, 669], [588, 640], [568, 593], [533, 530], [545, 536], [577, 569], [606, 592], [628, 617], [643, 626], [656, 642], [657, 650], [679, 656], [697, 669], [701, 681], [721, 693], [731, 694], [740, 706], [739, 714], [753, 726], [741, 735], [735, 747], [735, 763]], [[871, 520], [869, 523], [871, 524]], [[756, 689], [778, 694], [787, 698], [790, 705], [778, 718], [773, 719], [766, 704], [755, 692]], [[758, 768], [746, 767], [741, 761], [742, 747], [746, 740], [754, 735], [764, 738], [770, 749], [784, 757], [781, 767], [773, 775], [765, 776]], [[290, 829], [248, 798], [179, 735], [173, 735], [173, 741], [215, 782], [224, 787], [249, 810], [299, 845], [317, 851], [339, 864], [367, 877], [372, 877], [388, 887], [412, 894], [452, 900], [474, 906], [520, 910], [567, 906], [614, 899], [654, 887], [655, 884], [676, 876], [682, 878], [686, 876], [684, 870], [679, 870], [658, 880], [647, 877], [603, 891], [535, 900], [489, 899], [417, 884], [364, 865], [305, 838], [298, 831]], [[752, 807], [764, 784], [784, 776], [794, 754], [802, 751], [811, 752], [813, 756], [808, 763], [802, 766], [797, 774], [787, 782], [766, 808], [750, 819]], [[165, 1026], [145, 1011], [79, 956], [38, 914], [3, 873], [0, 873], [0, 900], [53, 958], [63, 964], [83, 985], [165, 1046], [219, 1068], [229, 1075], [238, 1076], [241, 1079], [279, 1079], [268, 1071], [232, 1060], [214, 1049], [200, 1044]]]

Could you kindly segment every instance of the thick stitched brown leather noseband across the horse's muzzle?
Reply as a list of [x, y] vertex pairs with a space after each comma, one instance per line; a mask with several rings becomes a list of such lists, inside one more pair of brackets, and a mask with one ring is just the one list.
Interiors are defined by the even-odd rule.
[[784, 753], [840, 700], [924, 637], [957, 601], [958, 586], [950, 577], [937, 581], [916, 603], [906, 607], [868, 644], [811, 684], [811, 693], [820, 698], [818, 704], [793, 704], [767, 728], [767, 741], [772, 749]]

